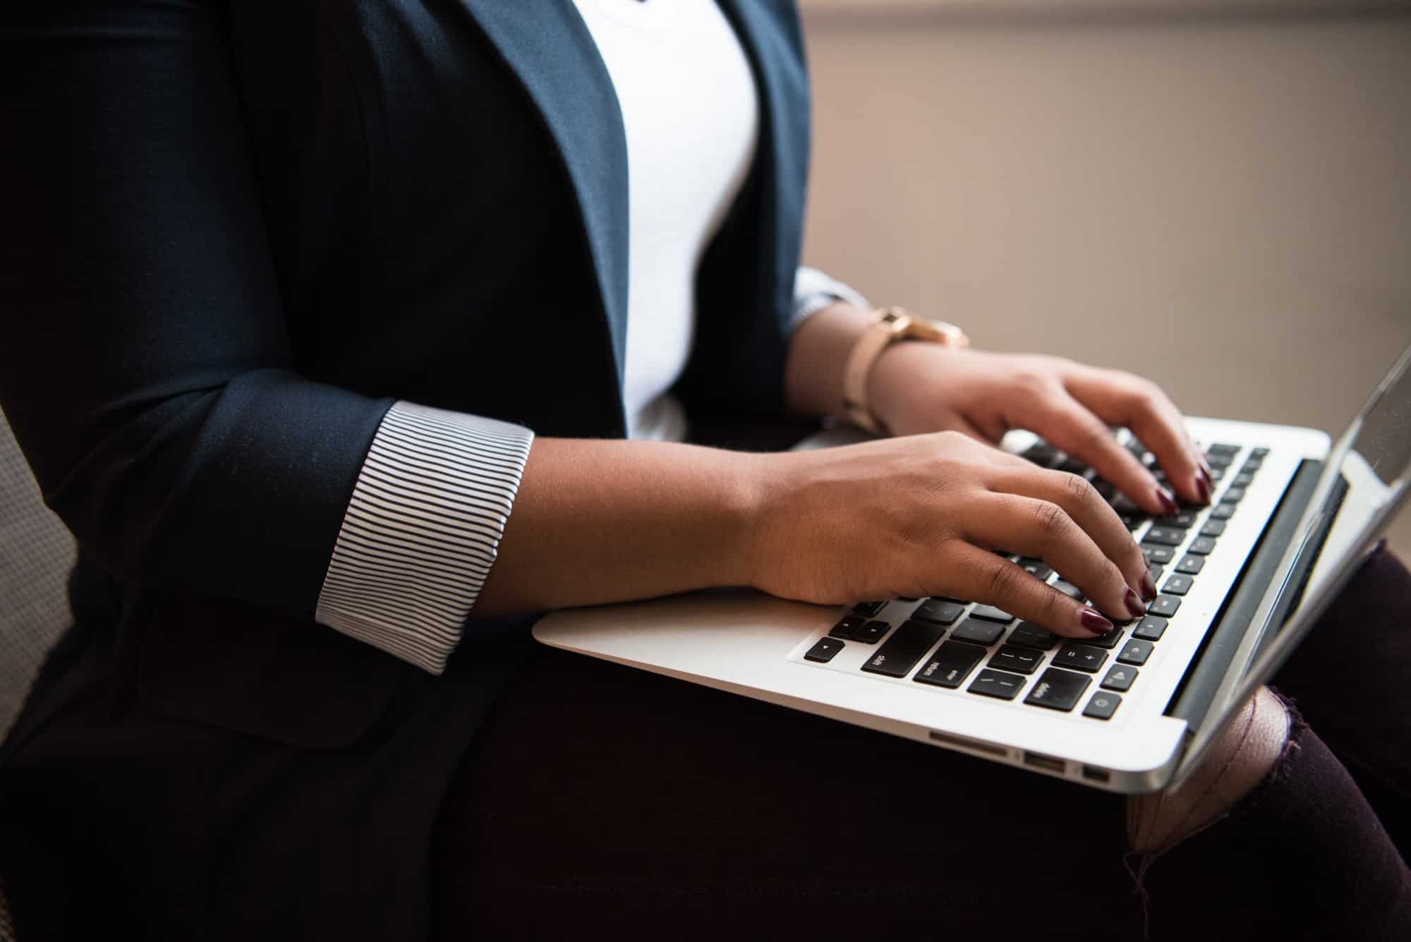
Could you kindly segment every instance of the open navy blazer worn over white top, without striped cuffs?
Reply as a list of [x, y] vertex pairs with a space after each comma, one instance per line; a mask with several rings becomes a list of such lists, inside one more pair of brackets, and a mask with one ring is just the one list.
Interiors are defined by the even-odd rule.
[[[762, 127], [696, 286], [700, 417], [782, 412], [809, 152], [793, 3], [720, 4]], [[433, 678], [312, 612], [392, 400], [624, 434], [626, 149], [587, 28], [569, 0], [34, 4], [0, 24], [0, 405], [80, 546], [8, 807], [102, 763], [71, 804], [134, 828], [164, 919], [415, 938], [525, 620], [473, 620]]]

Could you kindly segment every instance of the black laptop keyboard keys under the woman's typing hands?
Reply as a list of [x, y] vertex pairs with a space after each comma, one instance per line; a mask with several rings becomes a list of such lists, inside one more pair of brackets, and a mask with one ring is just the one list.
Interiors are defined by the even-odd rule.
[[[1164, 482], [1164, 474], [1153, 467], [1154, 457], [1136, 439], [1129, 437], [1127, 448]], [[1242, 451], [1236, 444], [1208, 446], [1206, 460], [1216, 487], [1211, 506], [1184, 506], [1175, 515], [1158, 518], [1149, 516], [1116, 494], [1112, 484], [1095, 478], [1081, 461], [1046, 443], [1024, 453], [1023, 457], [1041, 467], [1088, 478], [1133, 532], [1158, 587], [1157, 598], [1140, 619], [1115, 622], [1101, 637], [1074, 640], [992, 605], [958, 598], [858, 602], [804, 659], [827, 664], [848, 644], [875, 646], [862, 664], [869, 674], [910, 677], [919, 684], [964, 688], [1005, 701], [1024, 694], [1020, 702], [1061, 712], [1084, 704], [1082, 716], [1110, 719], [1122, 705], [1122, 695], [1140, 681], [1141, 668], [1158, 653], [1170, 619], [1201, 577], [1205, 557], [1225, 533], [1226, 520], [1237, 512], [1245, 488], [1268, 453], [1253, 448], [1236, 468]], [[1082, 589], [1058, 578], [1041, 560], [999, 556], [1082, 601]], [[906, 613], [897, 616], [903, 606]]]

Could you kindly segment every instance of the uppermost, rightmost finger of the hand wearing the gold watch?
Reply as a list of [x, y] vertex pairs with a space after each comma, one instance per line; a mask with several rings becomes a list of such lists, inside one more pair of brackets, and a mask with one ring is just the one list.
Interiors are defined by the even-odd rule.
[[1077, 368], [1064, 386], [1108, 424], [1126, 426], [1156, 455], [1182, 499], [1209, 503], [1209, 468], [1175, 403], [1153, 382], [1115, 369]]

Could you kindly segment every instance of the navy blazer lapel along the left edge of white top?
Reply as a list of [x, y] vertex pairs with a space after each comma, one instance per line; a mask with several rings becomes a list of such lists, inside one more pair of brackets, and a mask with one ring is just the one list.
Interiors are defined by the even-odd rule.
[[563, 158], [583, 214], [621, 391], [626, 357], [628, 165], [612, 79], [569, 0], [460, 1], [533, 99]]

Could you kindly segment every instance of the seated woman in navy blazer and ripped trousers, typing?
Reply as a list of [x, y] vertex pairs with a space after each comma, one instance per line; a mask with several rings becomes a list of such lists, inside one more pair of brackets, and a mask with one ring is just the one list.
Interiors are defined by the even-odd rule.
[[[1139, 931], [1108, 795], [528, 642], [533, 612], [729, 584], [1081, 637], [1150, 598], [1141, 554], [1091, 488], [985, 443], [1033, 427], [1153, 513], [1209, 495], [1150, 384], [930, 343], [852, 391], [899, 437], [673, 441], [842, 417], [875, 330], [797, 271], [792, 4], [93, 4], [0, 35], [0, 400], [80, 544], [6, 746], [23, 938]], [[1386, 608], [1405, 574], [1376, 565]], [[1309, 781], [1338, 814], [1252, 845]], [[1280, 701], [1198, 785], [1133, 807], [1140, 850], [1237, 808], [1153, 867], [1209, 905], [1154, 932], [1232, 925], [1249, 881], [1281, 900], [1254, 931], [1404, 925], [1395, 846]]]

